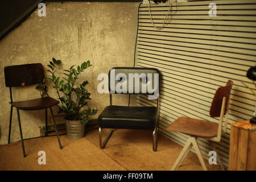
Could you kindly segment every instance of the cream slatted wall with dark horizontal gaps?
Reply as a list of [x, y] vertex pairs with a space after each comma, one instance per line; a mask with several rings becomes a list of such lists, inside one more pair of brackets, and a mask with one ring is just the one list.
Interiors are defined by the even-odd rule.
[[[217, 16], [210, 17], [209, 3], [216, 3]], [[170, 5], [151, 5], [152, 20], [160, 27]], [[255, 96], [246, 71], [256, 64], [256, 1], [199, 1], [173, 3], [176, 10], [163, 30], [152, 26], [148, 5], [139, 9], [137, 67], [158, 68], [160, 86], [159, 131], [184, 145], [187, 135], [164, 131], [181, 115], [218, 122], [209, 117], [216, 89], [229, 79], [234, 86], [230, 101], [228, 131], [217, 145], [222, 162], [228, 168], [230, 123], [252, 117]], [[138, 96], [141, 106], [155, 101]], [[199, 139], [200, 149], [209, 158], [207, 140]]]

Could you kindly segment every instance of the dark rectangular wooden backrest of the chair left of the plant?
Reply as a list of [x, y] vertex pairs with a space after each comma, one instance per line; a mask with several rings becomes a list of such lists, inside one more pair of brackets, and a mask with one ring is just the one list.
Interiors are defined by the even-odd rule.
[[7, 87], [40, 84], [43, 79], [43, 65], [40, 63], [5, 67], [5, 85]]

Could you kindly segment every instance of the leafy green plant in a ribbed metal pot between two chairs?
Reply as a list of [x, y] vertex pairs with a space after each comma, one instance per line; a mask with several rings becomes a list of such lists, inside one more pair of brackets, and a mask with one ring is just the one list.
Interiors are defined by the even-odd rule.
[[[90, 100], [90, 93], [85, 88], [88, 81], [83, 81], [80, 85], [76, 85], [78, 76], [85, 71], [86, 68], [92, 66], [90, 61], [82, 63], [75, 68], [72, 65], [69, 69], [64, 70], [64, 77], [60, 78], [55, 75], [55, 69], [61, 64], [60, 60], [52, 58], [49, 61], [47, 71], [51, 73], [46, 79], [49, 80], [56, 89], [57, 95], [61, 102], [58, 113], [65, 113], [65, 125], [67, 129], [68, 138], [78, 139], [84, 137], [85, 123], [89, 121], [91, 115], [97, 113], [97, 109], [90, 109], [88, 102]], [[47, 94], [46, 80], [43, 81], [42, 85], [39, 85], [37, 89], [41, 90], [42, 93]]]

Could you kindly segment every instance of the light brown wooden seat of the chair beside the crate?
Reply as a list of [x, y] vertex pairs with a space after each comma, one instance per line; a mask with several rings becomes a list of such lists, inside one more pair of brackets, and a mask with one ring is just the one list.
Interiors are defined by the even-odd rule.
[[171, 125], [166, 127], [167, 131], [176, 131], [194, 137], [212, 138], [217, 136], [218, 123], [179, 117]]

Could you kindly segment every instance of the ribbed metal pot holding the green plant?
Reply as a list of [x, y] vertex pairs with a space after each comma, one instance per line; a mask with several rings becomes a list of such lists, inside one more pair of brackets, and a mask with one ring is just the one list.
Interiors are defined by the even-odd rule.
[[68, 138], [79, 139], [84, 137], [85, 124], [82, 124], [80, 120], [70, 121], [65, 119], [65, 125]]

